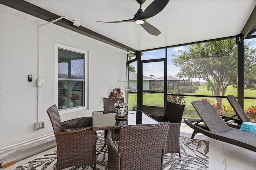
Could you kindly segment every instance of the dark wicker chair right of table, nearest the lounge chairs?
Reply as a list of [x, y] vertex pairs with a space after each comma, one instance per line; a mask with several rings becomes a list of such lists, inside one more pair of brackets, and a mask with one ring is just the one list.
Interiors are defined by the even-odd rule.
[[185, 105], [167, 102], [164, 116], [149, 115], [158, 122], [170, 122], [173, 124], [168, 132], [165, 153], [179, 153], [180, 158], [180, 125], [184, 109]]

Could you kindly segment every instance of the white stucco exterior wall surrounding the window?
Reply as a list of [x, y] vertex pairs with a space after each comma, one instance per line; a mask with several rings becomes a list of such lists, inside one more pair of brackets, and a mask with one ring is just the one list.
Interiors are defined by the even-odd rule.
[[[46, 109], [56, 104], [55, 43], [86, 50], [89, 56], [89, 109], [61, 114], [62, 121], [92, 116], [92, 111], [102, 110], [102, 97], [107, 97], [115, 87], [124, 89], [124, 82], [118, 80], [125, 80], [126, 53], [45, 26], [41, 32], [39, 60], [39, 78], [44, 79], [44, 86], [37, 87], [37, 40], [36, 23], [1, 11], [0, 148], [53, 132]], [[118, 64], [112, 65], [113, 61]], [[32, 82], [28, 82], [30, 74]], [[37, 120], [45, 122], [44, 129], [34, 129]]]

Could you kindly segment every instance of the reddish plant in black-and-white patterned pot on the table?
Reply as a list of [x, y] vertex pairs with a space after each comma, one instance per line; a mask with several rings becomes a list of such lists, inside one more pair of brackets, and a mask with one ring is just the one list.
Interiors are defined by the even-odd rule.
[[117, 117], [126, 117], [127, 116], [127, 108], [128, 108], [128, 104], [127, 103], [123, 103], [120, 100], [120, 97], [122, 97], [123, 93], [120, 89], [120, 87], [115, 88], [109, 95], [109, 97], [113, 100], [116, 101], [116, 103], [114, 103], [114, 108], [116, 111], [116, 116]]

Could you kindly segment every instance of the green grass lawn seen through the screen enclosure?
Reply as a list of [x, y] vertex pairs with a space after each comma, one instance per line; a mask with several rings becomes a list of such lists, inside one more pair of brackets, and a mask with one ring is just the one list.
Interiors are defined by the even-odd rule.
[[[188, 95], [212, 95], [211, 91], [208, 91], [205, 86], [200, 86], [196, 93], [186, 93]], [[237, 96], [237, 87], [233, 87], [232, 85], [228, 86], [228, 89], [225, 93], [227, 95], [234, 95]], [[244, 96], [245, 97], [256, 97], [256, 89], [255, 88], [246, 88], [244, 89]], [[132, 106], [137, 103], [137, 94], [129, 94], [129, 108], [131, 109]], [[205, 98], [205, 97], [204, 97]], [[216, 98], [211, 97], [207, 98], [210, 101], [216, 103]], [[186, 102], [186, 110], [183, 117], [189, 118], [199, 118], [198, 114], [194, 110], [194, 107], [191, 105], [192, 101], [195, 100], [202, 100], [202, 97], [184, 97], [184, 101]], [[222, 104], [230, 105], [226, 98], [223, 98]], [[164, 107], [164, 95], [163, 93], [146, 93], [143, 95], [143, 105], [149, 106], [160, 106]], [[251, 107], [252, 105], [256, 105], [255, 100], [252, 99], [245, 99], [244, 100], [244, 109]]]

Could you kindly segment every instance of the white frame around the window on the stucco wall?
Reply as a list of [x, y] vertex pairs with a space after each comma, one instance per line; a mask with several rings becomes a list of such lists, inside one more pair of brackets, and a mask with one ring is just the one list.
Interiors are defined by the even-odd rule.
[[66, 45], [62, 44], [55, 44], [55, 87], [54, 87], [54, 101], [58, 107], [58, 49], [66, 49], [78, 53], [83, 53], [84, 54], [84, 107], [77, 107], [77, 108], [70, 108], [70, 109], [65, 109], [65, 110], [60, 110], [59, 113], [64, 114], [64, 113], [71, 113], [71, 112], [76, 112], [76, 111], [82, 111], [85, 109], [88, 109], [88, 70], [89, 70], [89, 64], [88, 64], [88, 51], [74, 48], [74, 47], [69, 47]]

